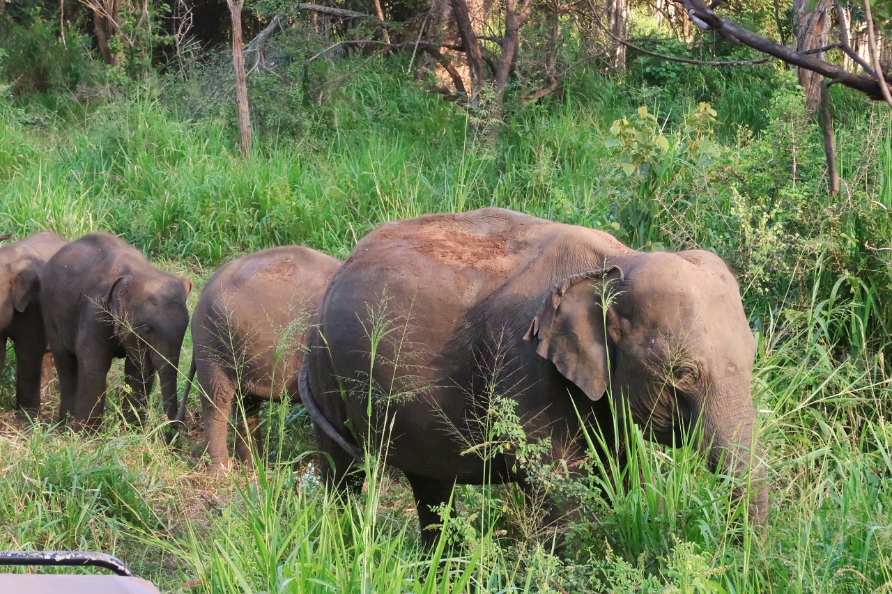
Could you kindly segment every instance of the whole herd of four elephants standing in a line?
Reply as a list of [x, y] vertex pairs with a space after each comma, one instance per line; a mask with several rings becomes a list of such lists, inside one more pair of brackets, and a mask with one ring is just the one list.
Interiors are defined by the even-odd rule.
[[[143, 416], [157, 372], [164, 411], [182, 422], [197, 376], [218, 472], [236, 396], [245, 417], [260, 400], [300, 399], [326, 484], [358, 490], [357, 462], [380, 453], [408, 479], [428, 546], [433, 508], [457, 483], [516, 482], [535, 494], [516, 448], [480, 455], [506, 442], [494, 407], [508, 406], [547, 460], [570, 466], [621, 449], [617, 417], [631, 416], [666, 445], [695, 432], [709, 466], [746, 479], [733, 493], [764, 521], [756, 345], [737, 282], [711, 252], [638, 252], [495, 208], [387, 223], [343, 263], [300, 246], [257, 252], [205, 285], [178, 407], [191, 288], [108, 234], [68, 243], [45, 232], [0, 248], [0, 358], [9, 337], [17, 405], [37, 414], [47, 349], [60, 420], [76, 427], [100, 425], [112, 359], [125, 359], [128, 421]], [[254, 428], [235, 425], [235, 452], [250, 464]], [[599, 453], [587, 451], [594, 428], [607, 446]]]

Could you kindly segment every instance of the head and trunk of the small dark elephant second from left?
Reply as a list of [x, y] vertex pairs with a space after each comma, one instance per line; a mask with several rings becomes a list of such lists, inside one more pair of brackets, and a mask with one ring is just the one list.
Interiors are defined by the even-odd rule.
[[[153, 374], [158, 372], [164, 411], [170, 420], [177, 417], [179, 352], [189, 324], [186, 297], [191, 291], [187, 278], [142, 271], [115, 278], [103, 300], [120, 348], [129, 361], [139, 362], [132, 369], [125, 367], [128, 382], [144, 386], [137, 400], [145, 400]], [[139, 404], [145, 405], [145, 401]]]

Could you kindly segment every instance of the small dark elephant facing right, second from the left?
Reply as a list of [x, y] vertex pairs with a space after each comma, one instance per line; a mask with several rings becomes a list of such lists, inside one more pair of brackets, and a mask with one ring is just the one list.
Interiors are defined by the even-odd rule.
[[191, 290], [189, 279], [155, 268], [142, 252], [107, 233], [84, 235], [56, 252], [44, 269], [40, 301], [59, 375], [62, 423], [102, 425], [112, 359], [125, 359], [128, 423], [145, 411], [156, 371], [164, 411], [175, 419]]

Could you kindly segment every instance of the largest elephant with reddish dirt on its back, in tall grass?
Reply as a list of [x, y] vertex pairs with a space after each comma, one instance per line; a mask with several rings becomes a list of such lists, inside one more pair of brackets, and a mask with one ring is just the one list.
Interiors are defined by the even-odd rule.
[[432, 507], [456, 483], [541, 496], [516, 450], [474, 454], [502, 439], [487, 425], [497, 399], [570, 467], [586, 455], [583, 428], [623, 447], [609, 428], [624, 411], [662, 444], [698, 435], [710, 466], [751, 480], [748, 514], [764, 521], [766, 471], [751, 464], [756, 342], [737, 281], [711, 252], [638, 252], [497, 208], [391, 222], [335, 273], [308, 347], [299, 391], [331, 460], [326, 484], [356, 489], [351, 466], [380, 448], [409, 480], [427, 547], [441, 521]]

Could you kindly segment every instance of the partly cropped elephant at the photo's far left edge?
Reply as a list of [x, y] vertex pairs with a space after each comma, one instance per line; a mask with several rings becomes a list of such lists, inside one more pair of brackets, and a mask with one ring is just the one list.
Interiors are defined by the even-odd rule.
[[43, 231], [0, 247], [0, 371], [10, 338], [16, 363], [15, 404], [31, 417], [40, 412], [41, 394], [53, 372], [39, 300], [41, 276], [46, 260], [66, 243]]

